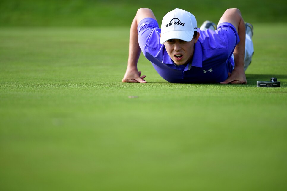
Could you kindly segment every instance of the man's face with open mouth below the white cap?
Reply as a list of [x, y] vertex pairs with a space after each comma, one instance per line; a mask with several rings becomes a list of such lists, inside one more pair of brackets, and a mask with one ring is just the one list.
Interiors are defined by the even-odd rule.
[[194, 51], [193, 47], [197, 42], [198, 37], [199, 35], [189, 42], [179, 39], [170, 39], [163, 44], [174, 63], [177, 65], [183, 65], [191, 61]]

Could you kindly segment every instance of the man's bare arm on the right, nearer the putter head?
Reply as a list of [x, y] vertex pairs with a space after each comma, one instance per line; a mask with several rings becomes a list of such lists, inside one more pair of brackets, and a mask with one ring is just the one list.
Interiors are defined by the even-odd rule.
[[246, 76], [244, 72], [244, 54], [245, 54], [245, 23], [239, 9], [227, 9], [219, 20], [219, 23], [231, 23], [237, 30], [240, 42], [236, 45], [234, 55], [234, 69], [229, 73], [229, 78], [222, 84], [246, 84]]

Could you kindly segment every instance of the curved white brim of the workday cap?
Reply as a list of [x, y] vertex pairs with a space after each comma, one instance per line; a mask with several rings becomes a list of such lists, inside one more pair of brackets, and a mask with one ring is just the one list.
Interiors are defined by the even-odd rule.
[[180, 39], [184, 41], [191, 41], [194, 31], [169, 31], [160, 36], [160, 44], [170, 39]]

